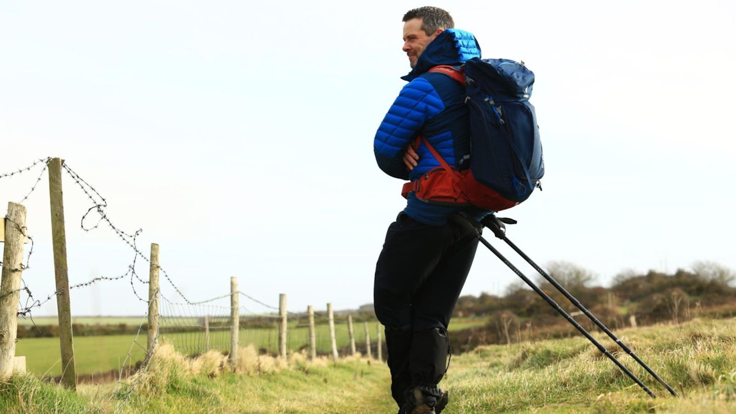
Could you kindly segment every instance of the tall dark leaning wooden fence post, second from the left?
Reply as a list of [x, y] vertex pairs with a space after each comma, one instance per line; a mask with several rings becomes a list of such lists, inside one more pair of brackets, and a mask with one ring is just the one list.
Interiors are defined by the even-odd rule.
[[61, 383], [77, 389], [77, 370], [74, 367], [74, 336], [71, 331], [71, 304], [69, 301], [69, 273], [66, 263], [66, 228], [64, 226], [64, 198], [61, 186], [61, 158], [49, 161], [49, 198], [51, 200], [51, 231], [54, 243], [54, 275], [56, 276], [56, 305], [59, 315], [59, 344], [61, 348]]

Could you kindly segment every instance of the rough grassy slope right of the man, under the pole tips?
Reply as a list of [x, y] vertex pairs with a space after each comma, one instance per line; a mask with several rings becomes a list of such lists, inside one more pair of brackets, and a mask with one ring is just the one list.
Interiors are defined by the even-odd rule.
[[652, 399], [584, 337], [483, 346], [453, 359], [451, 413], [735, 413], [736, 321], [624, 329], [629, 345], [682, 398], [670, 396], [605, 334], [594, 334], [657, 394]]

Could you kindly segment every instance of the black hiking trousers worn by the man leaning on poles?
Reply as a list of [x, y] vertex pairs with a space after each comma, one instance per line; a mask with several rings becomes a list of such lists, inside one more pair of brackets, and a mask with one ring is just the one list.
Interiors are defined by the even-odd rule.
[[402, 212], [389, 226], [373, 301], [386, 326], [392, 396], [399, 405], [407, 388], [436, 385], [445, 374], [447, 325], [476, 248], [474, 234], [449, 222], [425, 225]]

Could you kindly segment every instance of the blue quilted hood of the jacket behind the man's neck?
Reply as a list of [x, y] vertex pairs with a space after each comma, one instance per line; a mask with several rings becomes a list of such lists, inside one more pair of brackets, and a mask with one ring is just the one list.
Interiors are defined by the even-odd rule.
[[461, 65], [473, 57], [481, 57], [481, 46], [473, 33], [460, 29], [447, 29], [427, 45], [414, 69], [401, 79], [408, 82], [434, 66]]

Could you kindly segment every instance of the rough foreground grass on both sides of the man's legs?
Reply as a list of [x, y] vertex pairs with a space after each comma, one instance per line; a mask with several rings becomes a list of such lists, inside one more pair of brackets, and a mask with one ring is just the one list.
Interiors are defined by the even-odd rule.
[[[693, 320], [679, 326], [623, 329], [616, 334], [673, 386], [670, 396], [603, 334], [594, 336], [657, 394], [648, 396], [584, 337], [491, 345], [453, 357], [440, 384], [450, 390], [447, 414], [478, 413], [736, 413], [736, 320]], [[169, 347], [171, 349], [171, 347]], [[192, 360], [166, 351], [138, 377], [130, 398], [110, 399], [113, 385], [77, 393], [32, 376], [0, 382], [0, 412], [19, 413], [395, 413], [386, 365], [367, 359], [289, 365], [238, 354], [236, 373], [222, 360]], [[250, 355], [250, 357], [249, 357]], [[248, 362], [250, 359], [250, 362]], [[250, 365], [249, 365], [250, 364]], [[255, 366], [258, 365], [258, 371]], [[125, 403], [122, 406], [121, 403]]]

